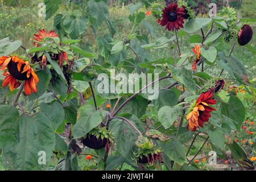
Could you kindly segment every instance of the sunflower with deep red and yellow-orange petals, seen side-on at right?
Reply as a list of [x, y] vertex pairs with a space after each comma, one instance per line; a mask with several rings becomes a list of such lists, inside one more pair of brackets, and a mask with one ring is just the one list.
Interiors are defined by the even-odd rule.
[[208, 122], [211, 117], [210, 112], [216, 110], [209, 105], [216, 104], [216, 100], [213, 98], [213, 93], [205, 92], [201, 93], [197, 99], [195, 106], [187, 114], [188, 127], [191, 131], [195, 131], [197, 127], [204, 126], [204, 122]]

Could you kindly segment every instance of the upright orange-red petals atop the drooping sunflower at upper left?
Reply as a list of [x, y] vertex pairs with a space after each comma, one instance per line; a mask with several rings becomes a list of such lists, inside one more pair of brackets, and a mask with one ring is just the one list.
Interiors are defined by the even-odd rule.
[[47, 32], [46, 30], [39, 30], [37, 32], [37, 34], [34, 34], [34, 45], [36, 47], [39, 47], [41, 46], [40, 43], [43, 43], [43, 42], [48, 42], [50, 40], [52, 40], [53, 38], [56, 38], [56, 37], [59, 37], [58, 34], [55, 34], [55, 31], [53, 30], [50, 30], [49, 32]]

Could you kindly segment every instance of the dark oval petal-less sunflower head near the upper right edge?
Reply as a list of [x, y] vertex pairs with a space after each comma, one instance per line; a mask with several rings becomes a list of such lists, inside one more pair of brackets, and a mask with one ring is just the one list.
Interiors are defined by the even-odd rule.
[[238, 43], [245, 46], [253, 38], [253, 28], [249, 24], [244, 24], [238, 32]]

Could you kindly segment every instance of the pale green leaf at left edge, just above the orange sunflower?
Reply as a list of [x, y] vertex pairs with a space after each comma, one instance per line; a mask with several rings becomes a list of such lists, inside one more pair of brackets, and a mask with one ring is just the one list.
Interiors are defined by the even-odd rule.
[[0, 40], [0, 56], [10, 55], [20, 46], [22, 46], [22, 42], [20, 40], [11, 42], [9, 38], [2, 39]]

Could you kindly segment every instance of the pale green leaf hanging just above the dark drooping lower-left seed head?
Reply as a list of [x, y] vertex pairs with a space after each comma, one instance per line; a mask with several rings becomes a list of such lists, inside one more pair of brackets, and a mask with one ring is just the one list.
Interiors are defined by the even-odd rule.
[[77, 122], [72, 127], [75, 139], [84, 137], [105, 118], [105, 110], [95, 110], [92, 105], [82, 105], [77, 112]]

